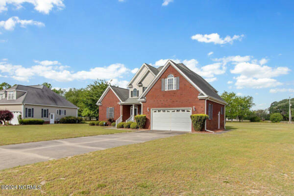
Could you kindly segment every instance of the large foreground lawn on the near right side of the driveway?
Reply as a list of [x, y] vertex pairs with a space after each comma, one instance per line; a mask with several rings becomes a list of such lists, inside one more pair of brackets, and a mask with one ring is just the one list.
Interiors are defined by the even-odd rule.
[[1, 184], [42, 185], [1, 196], [290, 196], [294, 124], [227, 123], [185, 134], [0, 171]]

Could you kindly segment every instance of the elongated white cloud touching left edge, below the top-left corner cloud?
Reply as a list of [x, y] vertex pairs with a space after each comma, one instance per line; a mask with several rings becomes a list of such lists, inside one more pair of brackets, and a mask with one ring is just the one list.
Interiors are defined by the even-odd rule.
[[44, 23], [33, 20], [21, 20], [17, 16], [9, 18], [7, 21], [0, 21], [0, 27], [5, 30], [14, 30], [16, 25], [20, 25], [25, 28], [27, 25], [45, 26]]

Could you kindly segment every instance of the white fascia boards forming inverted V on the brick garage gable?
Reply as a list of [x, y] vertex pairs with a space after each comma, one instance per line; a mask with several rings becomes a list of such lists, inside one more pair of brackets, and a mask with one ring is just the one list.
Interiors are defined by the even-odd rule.
[[159, 77], [166, 71], [166, 69], [172, 65], [172, 67], [181, 75], [183, 75], [200, 93], [202, 93], [203, 95], [207, 96], [192, 80], [190, 80], [190, 78], [187, 77], [186, 74], [184, 74], [181, 70], [179, 70], [176, 65], [174, 65], [174, 63], [171, 60], [168, 60], [168, 62], [164, 65], [164, 67], [160, 70], [160, 72], [156, 75], [156, 77], [152, 80], [152, 82], [150, 83], [150, 85], [147, 87], [147, 89], [144, 91], [144, 93], [139, 97], [142, 98], [144, 97], [149, 90], [152, 88], [152, 86], [157, 82], [157, 80], [159, 79]]

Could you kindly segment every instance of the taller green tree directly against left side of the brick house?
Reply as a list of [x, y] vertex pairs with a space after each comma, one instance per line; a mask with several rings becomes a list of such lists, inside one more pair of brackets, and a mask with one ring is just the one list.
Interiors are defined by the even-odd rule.
[[96, 80], [93, 84], [89, 84], [85, 89], [83, 103], [86, 108], [93, 112], [93, 115], [97, 120], [99, 116], [99, 107], [96, 103], [108, 87], [108, 84], [109, 83], [105, 80]]

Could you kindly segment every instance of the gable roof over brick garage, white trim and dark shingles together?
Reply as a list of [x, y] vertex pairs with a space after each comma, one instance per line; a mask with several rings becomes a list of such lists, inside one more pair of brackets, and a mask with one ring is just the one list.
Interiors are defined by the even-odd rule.
[[226, 104], [226, 102], [218, 95], [216, 89], [214, 89], [205, 79], [203, 79], [197, 73], [191, 71], [184, 64], [176, 64], [172, 60], [169, 60], [163, 68], [160, 69], [160, 72], [156, 75], [153, 81], [148, 86], [147, 90], [138, 98], [142, 99], [152, 88], [155, 82], [159, 77], [164, 73], [168, 66], [172, 65], [179, 73], [181, 73], [199, 92], [199, 98], [213, 98], [219, 100], [220, 102]]

